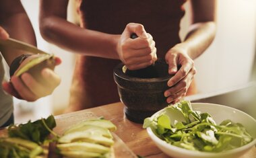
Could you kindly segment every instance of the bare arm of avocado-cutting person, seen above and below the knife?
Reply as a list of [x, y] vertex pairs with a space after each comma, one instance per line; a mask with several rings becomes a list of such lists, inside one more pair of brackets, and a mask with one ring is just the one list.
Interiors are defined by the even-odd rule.
[[[35, 46], [34, 30], [20, 0], [0, 0], [0, 4], [0, 26], [8, 32], [11, 38], [22, 40]], [[25, 53], [12, 48], [0, 48], [0, 51], [8, 65], [11, 64], [14, 58]], [[26, 52], [26, 54], [29, 53]]]

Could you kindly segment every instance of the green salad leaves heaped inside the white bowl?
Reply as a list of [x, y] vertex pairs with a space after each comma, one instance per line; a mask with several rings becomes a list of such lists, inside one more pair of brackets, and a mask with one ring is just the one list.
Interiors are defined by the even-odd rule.
[[216, 125], [208, 113], [192, 110], [190, 102], [182, 101], [166, 108], [180, 112], [183, 122], [171, 124], [166, 114], [146, 118], [143, 128], [150, 127], [160, 139], [192, 151], [220, 152], [241, 147], [253, 141], [242, 124], [224, 120]]

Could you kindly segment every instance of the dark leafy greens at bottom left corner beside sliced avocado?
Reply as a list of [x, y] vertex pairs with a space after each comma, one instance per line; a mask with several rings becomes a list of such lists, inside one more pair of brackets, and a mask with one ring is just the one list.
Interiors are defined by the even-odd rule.
[[45, 153], [41, 147], [48, 140], [51, 130], [56, 126], [55, 118], [9, 126], [8, 137], [0, 138], [1, 158], [32, 158]]

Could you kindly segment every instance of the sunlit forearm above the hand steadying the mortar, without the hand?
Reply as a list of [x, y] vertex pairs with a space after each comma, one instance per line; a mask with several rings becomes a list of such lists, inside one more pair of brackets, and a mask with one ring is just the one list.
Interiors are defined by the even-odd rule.
[[185, 40], [179, 45], [186, 48], [188, 55], [195, 59], [210, 46], [215, 34], [215, 22], [196, 23], [191, 25]]

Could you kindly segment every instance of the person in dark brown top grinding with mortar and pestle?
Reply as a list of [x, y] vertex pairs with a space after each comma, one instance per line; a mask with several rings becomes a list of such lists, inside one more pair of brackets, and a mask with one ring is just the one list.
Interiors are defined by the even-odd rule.
[[[196, 93], [193, 60], [214, 40], [214, 0], [190, 1], [192, 24], [184, 41], [179, 30], [185, 0], [79, 0], [80, 27], [67, 22], [67, 3], [40, 1], [42, 37], [80, 54], [66, 112], [119, 102], [113, 69], [120, 61], [136, 70], [152, 65], [156, 56], [164, 58], [168, 73], [174, 75], [164, 92], [168, 103]], [[133, 33], [138, 38], [131, 39]]]

